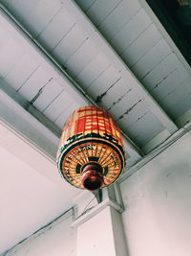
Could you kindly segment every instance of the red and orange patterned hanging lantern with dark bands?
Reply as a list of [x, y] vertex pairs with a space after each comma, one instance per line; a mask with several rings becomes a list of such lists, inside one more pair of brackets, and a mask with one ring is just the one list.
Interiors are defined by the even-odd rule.
[[77, 188], [94, 191], [113, 183], [124, 164], [120, 131], [111, 114], [96, 106], [75, 110], [60, 139], [60, 175]]

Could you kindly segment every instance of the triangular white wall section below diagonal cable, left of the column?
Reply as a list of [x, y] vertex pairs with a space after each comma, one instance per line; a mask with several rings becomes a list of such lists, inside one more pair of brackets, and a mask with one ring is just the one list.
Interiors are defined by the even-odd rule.
[[12, 248], [6, 256], [75, 256], [76, 231], [71, 223], [72, 211]]

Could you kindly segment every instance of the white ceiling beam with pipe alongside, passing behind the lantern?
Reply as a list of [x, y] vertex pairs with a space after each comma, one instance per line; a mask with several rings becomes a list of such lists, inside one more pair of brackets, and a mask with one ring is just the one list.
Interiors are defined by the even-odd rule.
[[[83, 91], [83, 89], [67, 74], [67, 72], [55, 61], [55, 59], [35, 40], [32, 35], [15, 19], [15, 17], [0, 4], [1, 23], [11, 31], [11, 35], [18, 40], [23, 47], [32, 53], [42, 66], [48, 70], [53, 78], [58, 81], [64, 88], [73, 96], [74, 100], [79, 105], [96, 105], [96, 103]], [[8, 93], [8, 92], [6, 92]], [[18, 104], [19, 102], [17, 102]], [[32, 109], [32, 108], [31, 108]], [[32, 113], [31, 113], [32, 114]], [[44, 125], [44, 124], [43, 124]], [[138, 162], [141, 158], [142, 152], [138, 146], [127, 137], [121, 130], [124, 145], [128, 152], [128, 158], [131, 159], [131, 165]]]

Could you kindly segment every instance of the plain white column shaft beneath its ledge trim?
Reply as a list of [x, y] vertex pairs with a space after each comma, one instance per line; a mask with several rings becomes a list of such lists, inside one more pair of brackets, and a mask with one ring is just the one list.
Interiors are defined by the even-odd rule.
[[127, 256], [121, 216], [106, 206], [77, 227], [76, 256]]

